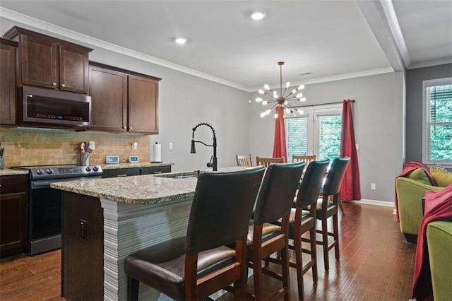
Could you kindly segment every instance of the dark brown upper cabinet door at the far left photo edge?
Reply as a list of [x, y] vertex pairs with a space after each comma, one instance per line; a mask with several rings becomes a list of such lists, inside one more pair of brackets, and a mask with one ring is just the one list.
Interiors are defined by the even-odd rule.
[[16, 47], [0, 44], [0, 123], [16, 124]]

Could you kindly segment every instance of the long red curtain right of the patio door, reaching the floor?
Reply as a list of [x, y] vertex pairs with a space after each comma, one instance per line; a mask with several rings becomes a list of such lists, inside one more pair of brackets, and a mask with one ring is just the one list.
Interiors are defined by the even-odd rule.
[[342, 186], [340, 187], [340, 199], [343, 201], [360, 200], [359, 166], [350, 100], [344, 100], [343, 102], [342, 130], [340, 132], [340, 157], [350, 157], [350, 164], [347, 167]]

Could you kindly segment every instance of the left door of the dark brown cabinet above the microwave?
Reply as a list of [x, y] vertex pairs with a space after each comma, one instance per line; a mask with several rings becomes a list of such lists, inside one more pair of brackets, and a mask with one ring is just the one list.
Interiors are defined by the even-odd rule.
[[44, 88], [58, 88], [58, 44], [54, 40], [33, 35], [20, 35], [22, 83]]

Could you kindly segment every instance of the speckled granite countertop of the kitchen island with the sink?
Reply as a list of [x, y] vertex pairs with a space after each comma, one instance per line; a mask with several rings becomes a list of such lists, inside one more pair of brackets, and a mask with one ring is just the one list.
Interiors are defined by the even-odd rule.
[[[246, 167], [225, 167], [220, 171], [244, 168]], [[50, 187], [122, 203], [156, 204], [193, 198], [198, 181], [197, 174], [198, 171], [189, 171], [107, 179], [81, 179], [52, 183]]]

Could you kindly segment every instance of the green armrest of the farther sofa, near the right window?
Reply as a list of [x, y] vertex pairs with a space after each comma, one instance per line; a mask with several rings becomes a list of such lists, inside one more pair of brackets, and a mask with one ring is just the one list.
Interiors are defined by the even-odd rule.
[[436, 187], [415, 179], [399, 177], [396, 179], [398, 199], [398, 215], [400, 230], [404, 234], [417, 235], [422, 220], [422, 198], [425, 191], [441, 191], [444, 187]]

